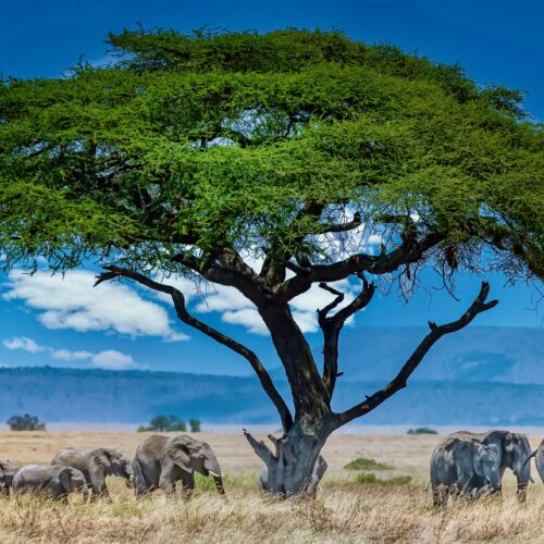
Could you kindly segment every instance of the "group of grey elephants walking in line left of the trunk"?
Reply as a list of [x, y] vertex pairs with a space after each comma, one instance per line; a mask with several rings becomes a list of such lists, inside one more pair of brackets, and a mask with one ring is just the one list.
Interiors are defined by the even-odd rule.
[[187, 435], [151, 435], [138, 445], [132, 461], [119, 449], [104, 447], [63, 449], [51, 465], [18, 467], [10, 460], [0, 460], [0, 494], [9, 496], [13, 489], [15, 494], [26, 491], [66, 500], [72, 492], [85, 496], [91, 492], [92, 500], [109, 497], [108, 475], [124, 478], [137, 496], [156, 489], [171, 494], [178, 481], [190, 493], [195, 472], [212, 475], [218, 491], [224, 494], [221, 468], [208, 444]]

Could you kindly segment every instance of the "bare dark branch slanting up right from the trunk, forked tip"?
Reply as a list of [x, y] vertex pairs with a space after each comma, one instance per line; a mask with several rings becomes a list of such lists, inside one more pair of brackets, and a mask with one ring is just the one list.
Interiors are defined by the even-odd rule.
[[432, 321], [429, 322], [429, 327], [431, 332], [423, 338], [421, 344], [416, 348], [410, 358], [406, 361], [404, 367], [400, 369], [398, 374], [383, 388], [375, 392], [370, 397], [367, 396], [367, 400], [354, 406], [349, 410], [346, 410], [336, 416], [336, 428], [353, 421], [360, 416], [372, 411], [374, 408], [380, 406], [384, 400], [390, 398], [392, 395], [397, 393], [399, 390], [406, 387], [408, 378], [418, 368], [419, 363], [423, 357], [428, 354], [431, 347], [436, 341], [442, 338], [445, 334], [450, 334], [453, 332], [459, 331], [460, 329], [467, 326], [479, 313], [494, 308], [498, 300], [491, 300], [486, 302], [487, 294], [490, 293], [490, 284], [487, 282], [482, 282], [482, 287], [480, 294], [472, 302], [470, 308], [457, 320], [452, 323], [446, 323], [445, 325], [437, 325]]

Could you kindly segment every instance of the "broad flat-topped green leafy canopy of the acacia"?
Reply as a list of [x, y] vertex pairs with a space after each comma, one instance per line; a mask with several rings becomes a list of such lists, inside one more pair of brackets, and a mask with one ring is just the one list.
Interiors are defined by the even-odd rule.
[[225, 246], [330, 262], [341, 245], [320, 235], [357, 211], [386, 248], [410, 217], [440, 233], [426, 260], [442, 273], [544, 274], [544, 136], [519, 92], [336, 32], [109, 42], [125, 54], [109, 67], [0, 85], [5, 269], [94, 257], [190, 275], [174, 255]]

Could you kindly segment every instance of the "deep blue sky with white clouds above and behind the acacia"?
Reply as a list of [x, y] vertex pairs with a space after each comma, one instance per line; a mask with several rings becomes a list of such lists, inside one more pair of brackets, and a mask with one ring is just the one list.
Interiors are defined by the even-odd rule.
[[[459, 62], [481, 84], [498, 83], [528, 92], [528, 109], [544, 121], [544, 2], [490, 0], [359, 0], [198, 3], [171, 0], [10, 2], [0, 18], [0, 73], [17, 77], [54, 77], [79, 54], [100, 61], [108, 30], [149, 27], [190, 30], [211, 27], [258, 29], [339, 28], [368, 42], [385, 41], [434, 60]], [[477, 324], [542, 326], [533, 287], [505, 286], [489, 277], [492, 296], [500, 299]], [[456, 319], [478, 293], [480, 280], [458, 277], [459, 301], [429, 277], [431, 287], [408, 304], [378, 296], [355, 326], [422, 325]], [[249, 373], [244, 360], [226, 348], [175, 322], [166, 301], [126, 284], [91, 289], [91, 275], [67, 276], [64, 283], [38, 274], [15, 273], [0, 281], [0, 364], [148, 368], [187, 372]], [[184, 285], [190, 293], [189, 286]], [[348, 289], [351, 287], [345, 286]], [[101, 290], [100, 290], [101, 289]], [[259, 330], [251, 309], [236, 295], [195, 295], [199, 317], [256, 349], [270, 366], [277, 360], [270, 339]], [[318, 343], [314, 309], [323, 300], [313, 292], [295, 310], [310, 342]], [[354, 326], [353, 325], [353, 326]]]

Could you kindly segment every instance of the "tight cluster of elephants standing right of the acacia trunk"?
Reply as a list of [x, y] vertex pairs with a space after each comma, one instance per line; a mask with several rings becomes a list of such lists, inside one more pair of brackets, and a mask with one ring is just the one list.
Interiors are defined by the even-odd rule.
[[530, 460], [533, 457], [544, 482], [544, 441], [531, 452], [524, 434], [509, 431], [450, 434], [431, 456], [433, 504], [445, 506], [450, 495], [477, 498], [484, 493], [500, 493], [507, 468], [516, 475], [518, 498], [523, 502], [532, 481]]

